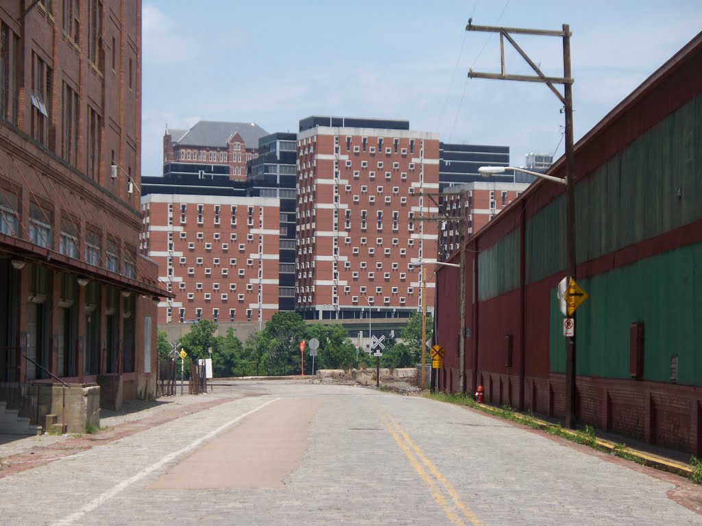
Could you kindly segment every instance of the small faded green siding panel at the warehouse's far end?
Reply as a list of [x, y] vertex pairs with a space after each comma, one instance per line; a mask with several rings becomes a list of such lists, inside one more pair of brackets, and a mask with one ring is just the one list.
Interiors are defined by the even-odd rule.
[[478, 297], [483, 302], [519, 287], [519, 229], [478, 257]]

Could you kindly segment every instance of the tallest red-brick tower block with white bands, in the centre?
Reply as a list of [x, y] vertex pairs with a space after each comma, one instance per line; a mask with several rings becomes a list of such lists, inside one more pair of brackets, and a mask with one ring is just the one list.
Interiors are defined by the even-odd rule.
[[[298, 133], [297, 309], [307, 319], [404, 318], [437, 255], [436, 133], [408, 121], [311, 116]], [[432, 283], [429, 284], [430, 287]], [[433, 305], [433, 289], [425, 302]]]

